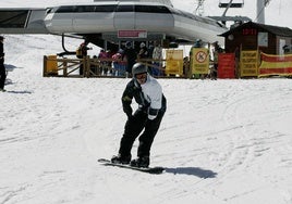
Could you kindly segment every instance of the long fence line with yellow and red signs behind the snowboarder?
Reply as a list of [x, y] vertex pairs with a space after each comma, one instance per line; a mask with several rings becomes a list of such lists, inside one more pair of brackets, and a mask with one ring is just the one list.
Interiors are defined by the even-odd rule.
[[[193, 52], [193, 53], [192, 53]], [[193, 49], [191, 61], [182, 58], [181, 50], [168, 50], [166, 60], [139, 59], [149, 72], [160, 71], [156, 77], [195, 78], [194, 75], [208, 77], [212, 63], [209, 62], [207, 49]], [[260, 58], [259, 58], [260, 56]], [[186, 58], [187, 59], [187, 58]], [[127, 77], [125, 62], [114, 65], [112, 59], [58, 59], [57, 55], [44, 56], [44, 77]], [[235, 78], [234, 53], [220, 53], [218, 78]], [[292, 76], [292, 54], [271, 55], [258, 51], [241, 51], [240, 76]]]

